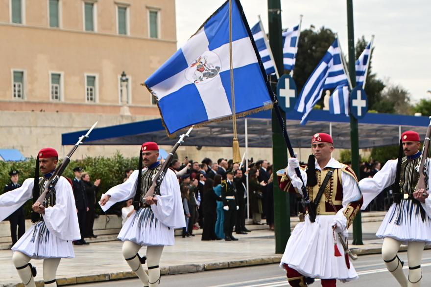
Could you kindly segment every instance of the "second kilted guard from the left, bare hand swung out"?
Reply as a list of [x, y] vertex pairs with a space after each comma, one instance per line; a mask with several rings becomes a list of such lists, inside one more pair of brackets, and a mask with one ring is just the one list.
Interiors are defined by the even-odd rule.
[[[122, 247], [124, 259], [145, 287], [159, 284], [159, 262], [163, 247], [174, 245], [174, 228], [186, 226], [180, 186], [172, 170], [166, 169], [160, 189], [146, 196], [153, 184], [153, 178], [162, 168], [157, 160], [158, 156], [159, 147], [155, 142], [144, 143], [141, 147], [140, 168], [124, 183], [108, 190], [100, 199], [100, 205], [105, 211], [115, 202], [135, 198], [136, 211], [124, 223], [118, 238], [124, 242]], [[144, 170], [142, 162], [145, 165]], [[147, 247], [148, 273], [141, 265], [144, 263], [143, 258], [138, 255], [142, 246]]]

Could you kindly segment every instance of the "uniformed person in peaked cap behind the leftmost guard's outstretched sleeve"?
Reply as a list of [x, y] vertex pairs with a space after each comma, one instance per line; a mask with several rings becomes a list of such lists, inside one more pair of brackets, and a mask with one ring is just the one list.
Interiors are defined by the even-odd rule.
[[[14, 190], [21, 186], [18, 183], [18, 174], [20, 172], [13, 170], [9, 172], [10, 182], [6, 184], [3, 189], [3, 193]], [[25, 233], [25, 213], [24, 205], [18, 208], [14, 213], [9, 216], [10, 222], [10, 237], [12, 237], [12, 245], [14, 245], [18, 239]], [[17, 239], [17, 226], [18, 226], [18, 239]]]

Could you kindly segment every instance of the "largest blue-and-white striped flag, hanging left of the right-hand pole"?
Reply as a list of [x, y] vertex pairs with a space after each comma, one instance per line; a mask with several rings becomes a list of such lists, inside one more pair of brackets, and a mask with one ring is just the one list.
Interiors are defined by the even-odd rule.
[[296, 101], [295, 110], [304, 113], [301, 125], [304, 126], [307, 123], [307, 116], [320, 99], [323, 89], [336, 88], [347, 83], [347, 77], [341, 62], [338, 39], [335, 39], [320, 63], [311, 73]]

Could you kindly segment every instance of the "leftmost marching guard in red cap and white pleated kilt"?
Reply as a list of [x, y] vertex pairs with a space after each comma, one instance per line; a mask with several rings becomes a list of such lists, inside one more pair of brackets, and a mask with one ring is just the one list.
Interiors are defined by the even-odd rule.
[[[45, 148], [39, 151], [35, 178], [25, 179], [21, 187], [0, 196], [0, 221], [28, 199], [37, 199], [44, 192], [45, 184], [55, 172], [57, 162], [56, 150]], [[39, 168], [43, 177], [39, 177]], [[36, 190], [33, 192], [34, 186]], [[26, 287], [36, 287], [36, 268], [29, 261], [43, 259], [45, 286], [55, 287], [55, 274], [61, 258], [74, 258], [72, 241], [81, 238], [72, 183], [65, 177], [59, 177], [45, 206], [37, 201], [32, 208], [37, 215], [34, 220], [36, 222], [12, 246], [12, 263], [23, 284]]]

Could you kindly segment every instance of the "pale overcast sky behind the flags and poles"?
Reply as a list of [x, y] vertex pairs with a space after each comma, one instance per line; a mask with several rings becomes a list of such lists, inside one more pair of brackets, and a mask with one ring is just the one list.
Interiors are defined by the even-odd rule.
[[[225, 0], [175, 0], [178, 48], [181, 47]], [[347, 56], [346, 0], [281, 0], [282, 27], [292, 27], [304, 15], [301, 30], [310, 25], [325, 26], [338, 33]], [[242, 0], [252, 27], [261, 15], [268, 32], [267, 0]], [[372, 72], [377, 77], [401, 85], [410, 98], [431, 99], [431, 1], [357, 0], [354, 1], [355, 43], [362, 35], [370, 41], [375, 35]]]

